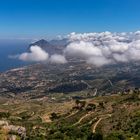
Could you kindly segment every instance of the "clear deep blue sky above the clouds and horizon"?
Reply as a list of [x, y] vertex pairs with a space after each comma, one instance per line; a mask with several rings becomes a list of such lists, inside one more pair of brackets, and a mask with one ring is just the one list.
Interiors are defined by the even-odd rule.
[[0, 38], [140, 29], [140, 0], [1, 0]]

